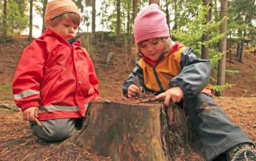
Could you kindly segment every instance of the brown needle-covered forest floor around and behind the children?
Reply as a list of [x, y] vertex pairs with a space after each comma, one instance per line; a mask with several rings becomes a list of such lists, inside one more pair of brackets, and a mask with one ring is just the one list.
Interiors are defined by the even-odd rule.
[[[25, 40], [14, 40], [0, 44], [0, 161], [2, 160], [109, 160], [96, 157], [76, 144], [73, 137], [67, 141], [44, 143], [32, 135], [28, 121], [15, 107], [12, 97], [12, 80], [23, 49], [28, 45]], [[90, 49], [94, 67], [100, 82], [99, 92], [104, 99], [121, 99], [122, 83], [134, 68], [134, 58], [117, 47], [114, 42], [97, 42]], [[235, 48], [235, 47], [234, 47]], [[113, 52], [107, 62], [109, 52]], [[227, 56], [227, 69], [239, 70], [239, 73], [226, 75], [226, 82], [233, 84], [225, 90], [224, 97], [215, 97], [215, 101], [224, 109], [227, 116], [239, 125], [247, 136], [256, 143], [256, 56], [244, 54], [240, 63], [233, 50], [233, 62]], [[28, 60], [29, 63], [29, 60]], [[212, 73], [216, 79], [216, 74]], [[254, 119], [253, 119], [254, 118]], [[199, 151], [201, 147], [197, 147]], [[190, 153], [181, 160], [205, 160], [200, 154]], [[198, 157], [199, 156], [199, 157]], [[200, 157], [201, 156], [201, 157]]]

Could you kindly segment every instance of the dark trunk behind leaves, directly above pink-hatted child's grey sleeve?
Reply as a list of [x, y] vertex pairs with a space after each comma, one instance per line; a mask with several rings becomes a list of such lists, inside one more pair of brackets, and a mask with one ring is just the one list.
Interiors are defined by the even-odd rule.
[[[209, 0], [203, 0], [204, 2], [204, 6], [209, 5]], [[204, 23], [204, 25], [206, 25], [207, 23], [209, 23], [210, 21], [210, 11], [207, 12], [207, 14], [204, 15], [206, 22]], [[206, 32], [206, 34], [202, 35], [202, 42], [208, 42], [209, 41], [209, 31]], [[204, 45], [202, 44], [201, 46], [201, 59], [209, 59], [209, 45]]]

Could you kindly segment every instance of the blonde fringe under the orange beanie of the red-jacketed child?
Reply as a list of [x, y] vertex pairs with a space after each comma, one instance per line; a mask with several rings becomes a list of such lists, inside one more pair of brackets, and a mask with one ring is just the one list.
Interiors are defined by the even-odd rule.
[[61, 14], [61, 15], [59, 15], [57, 17], [54, 17], [52, 19], [51, 27], [55, 27], [63, 19], [68, 19], [69, 21], [72, 21], [74, 24], [76, 24], [78, 26], [80, 25], [80, 20], [81, 20], [80, 16], [78, 14], [76, 14], [76, 13], [73, 13], [73, 12], [67, 12], [67, 13]]

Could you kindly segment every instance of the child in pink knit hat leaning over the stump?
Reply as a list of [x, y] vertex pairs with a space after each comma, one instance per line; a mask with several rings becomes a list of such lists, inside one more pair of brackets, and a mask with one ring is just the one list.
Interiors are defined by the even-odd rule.
[[[197, 59], [192, 48], [170, 39], [166, 14], [157, 4], [146, 7], [135, 18], [134, 37], [141, 59], [123, 83], [124, 96], [132, 98], [142, 90], [155, 93], [156, 99], [163, 98], [166, 106], [169, 101], [184, 105], [180, 107], [199, 136], [209, 161], [220, 160], [223, 155], [228, 161], [255, 161], [253, 142], [212, 98], [211, 62]], [[135, 76], [141, 88], [134, 85]]]

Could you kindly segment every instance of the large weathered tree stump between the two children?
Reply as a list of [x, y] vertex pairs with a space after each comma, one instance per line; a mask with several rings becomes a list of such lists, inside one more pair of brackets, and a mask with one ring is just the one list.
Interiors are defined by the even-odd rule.
[[113, 161], [172, 161], [185, 155], [189, 127], [174, 103], [91, 102], [75, 141]]

